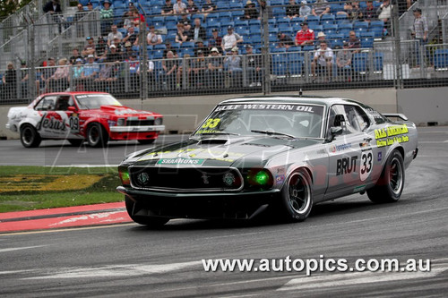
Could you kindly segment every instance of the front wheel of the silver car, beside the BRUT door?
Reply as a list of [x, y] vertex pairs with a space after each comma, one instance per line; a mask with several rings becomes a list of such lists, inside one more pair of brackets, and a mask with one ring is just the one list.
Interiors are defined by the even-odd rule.
[[311, 176], [305, 170], [289, 175], [281, 190], [283, 214], [289, 222], [304, 221], [313, 208]]

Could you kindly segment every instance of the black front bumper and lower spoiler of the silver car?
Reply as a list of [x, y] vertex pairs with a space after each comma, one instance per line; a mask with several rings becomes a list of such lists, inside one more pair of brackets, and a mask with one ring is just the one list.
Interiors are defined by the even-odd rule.
[[116, 188], [134, 200], [133, 216], [250, 219], [278, 199], [279, 189], [260, 192], [148, 192]]

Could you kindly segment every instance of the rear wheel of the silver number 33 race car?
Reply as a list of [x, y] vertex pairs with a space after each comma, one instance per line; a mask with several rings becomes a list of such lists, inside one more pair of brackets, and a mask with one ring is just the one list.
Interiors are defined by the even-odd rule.
[[392, 203], [401, 197], [404, 187], [404, 166], [400, 152], [394, 150], [383, 168], [376, 185], [367, 190], [370, 200], [375, 203]]

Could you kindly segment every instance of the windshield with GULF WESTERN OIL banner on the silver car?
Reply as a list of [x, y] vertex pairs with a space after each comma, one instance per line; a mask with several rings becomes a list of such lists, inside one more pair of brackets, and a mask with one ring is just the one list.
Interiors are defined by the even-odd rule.
[[276, 138], [320, 138], [323, 106], [297, 104], [220, 105], [194, 132], [211, 134], [270, 135]]

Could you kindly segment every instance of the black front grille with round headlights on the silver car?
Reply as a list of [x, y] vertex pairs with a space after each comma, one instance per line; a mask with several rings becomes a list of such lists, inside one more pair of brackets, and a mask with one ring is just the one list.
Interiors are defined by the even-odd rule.
[[147, 190], [237, 191], [243, 186], [236, 168], [131, 166], [129, 172], [131, 184]]

